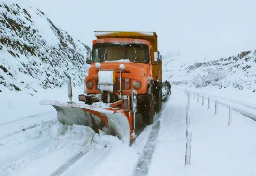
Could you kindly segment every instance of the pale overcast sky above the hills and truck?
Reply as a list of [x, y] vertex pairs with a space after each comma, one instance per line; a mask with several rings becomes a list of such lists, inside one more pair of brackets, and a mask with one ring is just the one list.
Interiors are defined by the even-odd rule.
[[156, 31], [159, 50], [204, 52], [256, 41], [256, 1], [26, 0], [92, 46], [94, 30]]

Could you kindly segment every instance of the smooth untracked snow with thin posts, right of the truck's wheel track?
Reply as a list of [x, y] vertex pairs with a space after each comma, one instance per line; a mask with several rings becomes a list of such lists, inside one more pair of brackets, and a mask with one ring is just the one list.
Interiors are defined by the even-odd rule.
[[219, 105], [214, 115], [214, 105], [190, 102], [191, 165], [184, 166], [187, 97], [172, 89], [148, 175], [255, 175], [256, 122], [233, 111], [228, 126], [228, 108]]

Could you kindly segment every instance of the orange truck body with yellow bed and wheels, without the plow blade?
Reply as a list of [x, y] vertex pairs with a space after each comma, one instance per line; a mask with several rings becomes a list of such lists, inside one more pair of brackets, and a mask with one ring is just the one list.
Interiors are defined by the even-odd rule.
[[[155, 32], [103, 32], [95, 31], [92, 51], [86, 63], [91, 64], [85, 78], [86, 94], [79, 100], [86, 104], [102, 101], [115, 103], [136, 90], [137, 112], [146, 124], [152, 124], [155, 111], [162, 107], [162, 57], [157, 49]], [[99, 71], [113, 71], [113, 91], [99, 89]], [[132, 106], [120, 104], [119, 108]]]

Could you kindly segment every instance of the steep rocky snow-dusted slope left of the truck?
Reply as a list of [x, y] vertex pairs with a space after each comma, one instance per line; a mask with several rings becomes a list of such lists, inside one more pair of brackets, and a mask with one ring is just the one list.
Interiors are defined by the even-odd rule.
[[[23, 6], [22, 6], [23, 5]], [[90, 48], [24, 4], [0, 3], [0, 92], [82, 85]]]

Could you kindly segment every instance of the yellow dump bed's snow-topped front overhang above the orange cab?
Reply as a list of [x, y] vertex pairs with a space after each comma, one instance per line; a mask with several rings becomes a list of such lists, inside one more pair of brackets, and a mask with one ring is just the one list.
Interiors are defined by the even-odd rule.
[[94, 31], [98, 39], [103, 38], [132, 38], [147, 40], [152, 46], [153, 52], [157, 52], [156, 32], [123, 32], [123, 31]]

